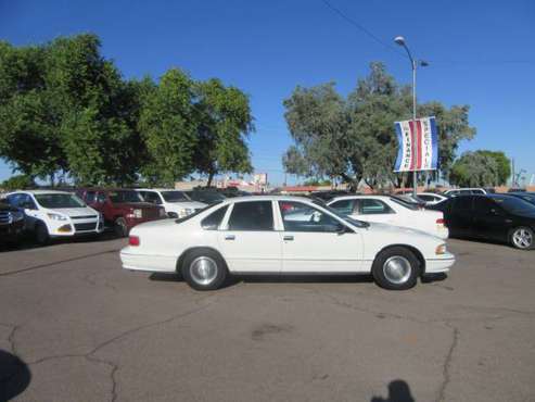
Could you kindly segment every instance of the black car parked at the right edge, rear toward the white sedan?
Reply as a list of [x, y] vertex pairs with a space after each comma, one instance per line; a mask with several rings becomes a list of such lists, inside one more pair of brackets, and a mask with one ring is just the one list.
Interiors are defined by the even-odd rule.
[[535, 243], [535, 205], [510, 194], [458, 196], [435, 205], [451, 237], [504, 241], [518, 249]]

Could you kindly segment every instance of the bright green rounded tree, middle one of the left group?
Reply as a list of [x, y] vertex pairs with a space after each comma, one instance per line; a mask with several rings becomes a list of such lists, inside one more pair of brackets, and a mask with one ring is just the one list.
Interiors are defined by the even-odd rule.
[[162, 76], [157, 88], [147, 93], [139, 129], [148, 150], [141, 173], [149, 183], [170, 186], [195, 169], [199, 122], [194, 90], [193, 80], [173, 68]]

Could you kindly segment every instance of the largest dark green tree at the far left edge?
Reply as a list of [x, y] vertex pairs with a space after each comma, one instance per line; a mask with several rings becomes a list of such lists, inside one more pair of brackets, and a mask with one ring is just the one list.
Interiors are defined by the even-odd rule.
[[137, 83], [100, 55], [94, 35], [38, 47], [0, 43], [0, 156], [25, 174], [131, 181], [140, 158]]

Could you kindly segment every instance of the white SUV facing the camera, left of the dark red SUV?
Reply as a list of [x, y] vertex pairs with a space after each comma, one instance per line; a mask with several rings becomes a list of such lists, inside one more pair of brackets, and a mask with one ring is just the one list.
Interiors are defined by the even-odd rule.
[[102, 214], [71, 192], [25, 190], [8, 194], [10, 205], [24, 211], [25, 228], [40, 244], [50, 239], [97, 235], [104, 230]]

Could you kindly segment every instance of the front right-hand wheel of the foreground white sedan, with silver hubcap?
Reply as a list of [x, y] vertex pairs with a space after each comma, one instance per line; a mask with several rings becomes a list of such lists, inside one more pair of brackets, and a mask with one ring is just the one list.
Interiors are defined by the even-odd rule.
[[371, 274], [381, 288], [406, 290], [415, 287], [421, 267], [412, 251], [405, 247], [392, 247], [375, 256]]

